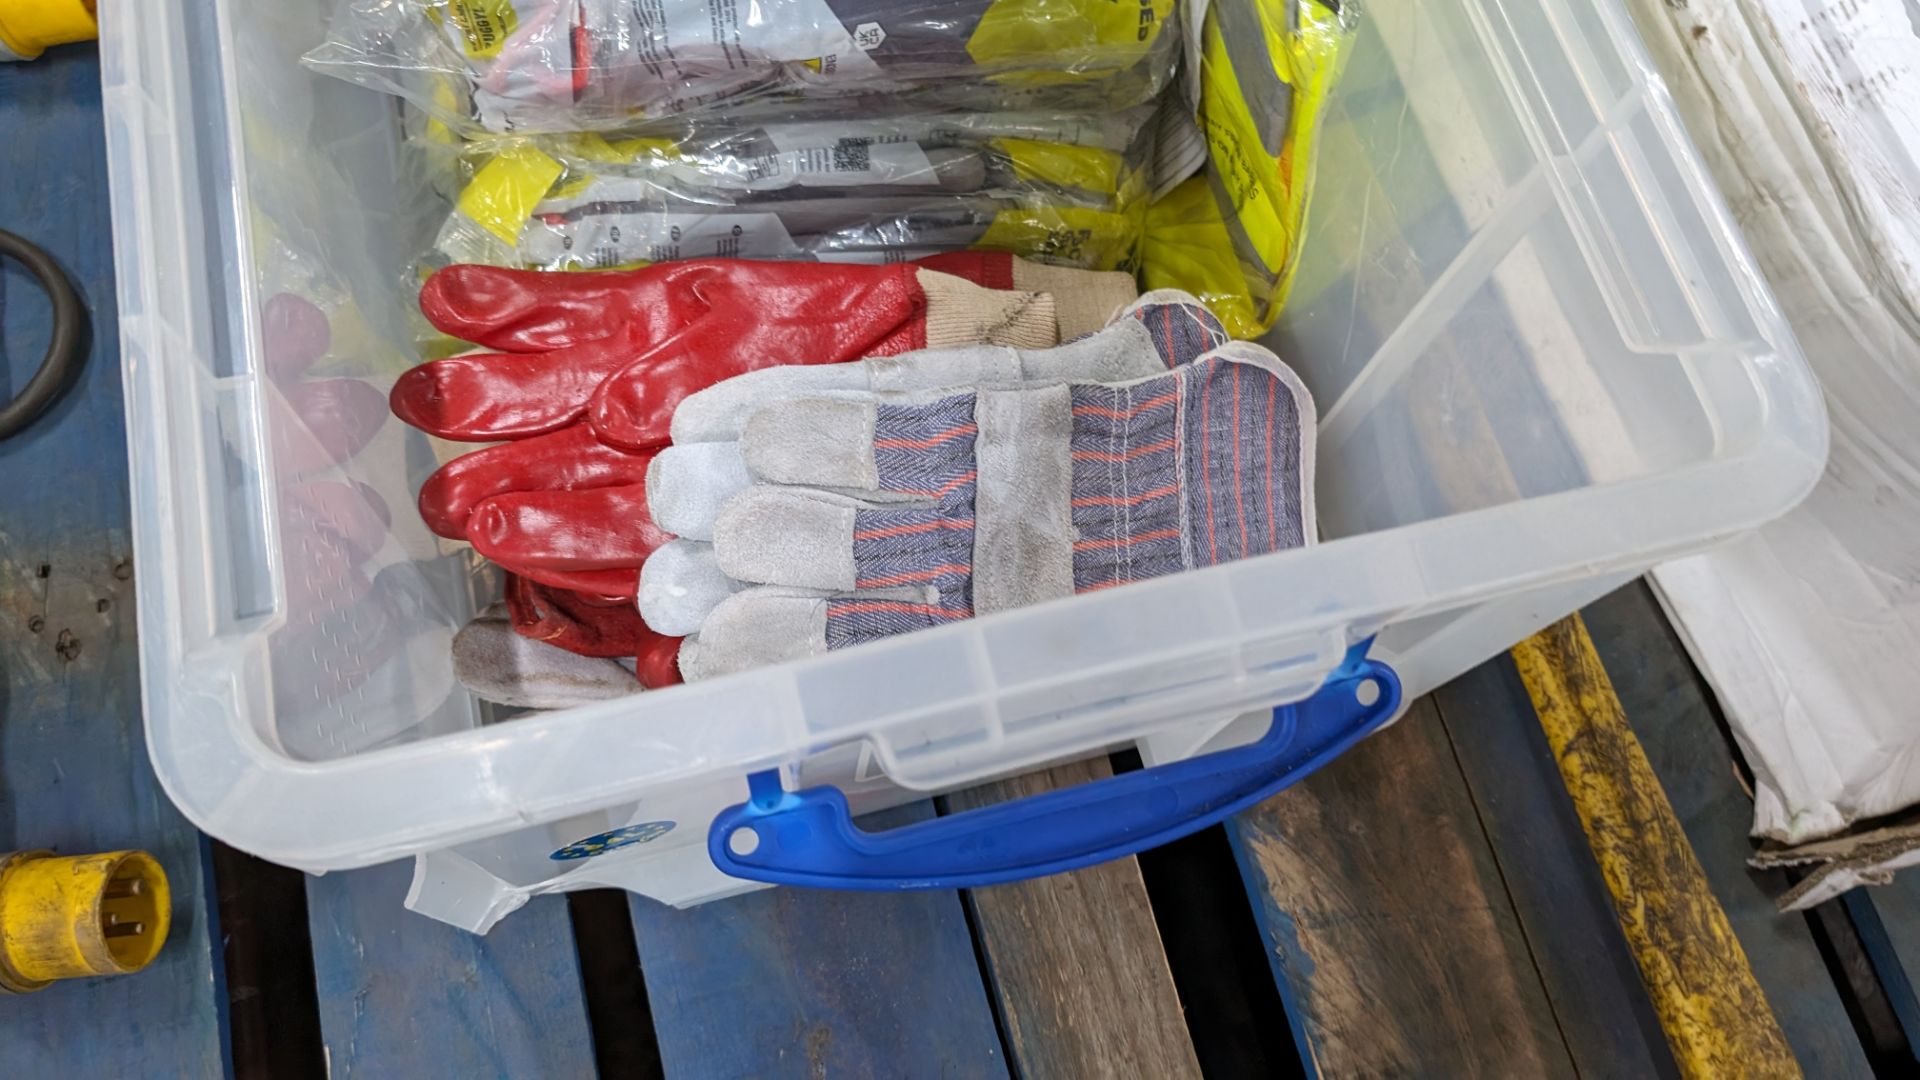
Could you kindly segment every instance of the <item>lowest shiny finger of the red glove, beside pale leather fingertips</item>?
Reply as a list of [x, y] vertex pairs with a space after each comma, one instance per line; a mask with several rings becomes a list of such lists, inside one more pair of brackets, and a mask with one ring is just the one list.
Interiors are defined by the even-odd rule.
[[634, 596], [639, 565], [672, 536], [647, 515], [647, 486], [626, 484], [486, 500], [467, 523], [467, 540], [516, 573], [624, 569], [624, 588], [599, 594]]

